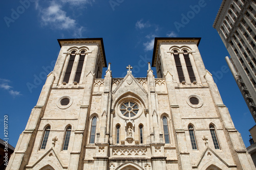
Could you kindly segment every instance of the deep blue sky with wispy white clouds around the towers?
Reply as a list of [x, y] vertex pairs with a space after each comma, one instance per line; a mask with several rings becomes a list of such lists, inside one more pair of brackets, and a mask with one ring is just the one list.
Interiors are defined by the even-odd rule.
[[[8, 115], [9, 143], [16, 146], [53, 69], [60, 50], [57, 39], [102, 37], [106, 61], [112, 63], [112, 75], [118, 78], [124, 77], [129, 64], [135, 77], [146, 77], [154, 37], [201, 37], [199, 50], [205, 67], [248, 147], [248, 130], [255, 122], [227, 69], [225, 56], [229, 54], [212, 28], [221, 2], [1, 1], [0, 126], [4, 127], [4, 115]], [[0, 138], [4, 138], [3, 130]]]

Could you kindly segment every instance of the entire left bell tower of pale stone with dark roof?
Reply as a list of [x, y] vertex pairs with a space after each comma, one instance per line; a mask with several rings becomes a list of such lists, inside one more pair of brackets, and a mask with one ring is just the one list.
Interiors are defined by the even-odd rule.
[[7, 169], [41, 169], [45, 165], [81, 169], [92, 86], [106, 67], [103, 40], [58, 39], [58, 43], [61, 48], [54, 70]]

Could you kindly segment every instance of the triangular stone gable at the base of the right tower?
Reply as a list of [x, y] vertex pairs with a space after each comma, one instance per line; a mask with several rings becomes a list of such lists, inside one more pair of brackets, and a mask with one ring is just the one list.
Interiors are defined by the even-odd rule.
[[196, 166], [192, 166], [192, 168], [202, 169], [202, 167], [204, 167], [205, 164], [209, 164], [209, 162], [212, 162], [211, 164], [216, 165], [221, 169], [227, 167], [237, 167], [237, 165], [229, 165], [228, 163], [226, 163], [217, 153], [212, 151], [209, 147], [205, 149], [197, 162], [198, 163], [196, 164]]

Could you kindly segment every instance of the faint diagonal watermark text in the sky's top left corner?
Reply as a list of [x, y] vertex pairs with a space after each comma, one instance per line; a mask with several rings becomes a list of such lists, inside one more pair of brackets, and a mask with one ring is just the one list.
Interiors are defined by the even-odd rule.
[[21, 14], [25, 12], [26, 9], [28, 9], [31, 5], [31, 3], [36, 2], [36, 0], [20, 0], [19, 1], [19, 6], [15, 9], [11, 9], [11, 14], [8, 16], [4, 17], [5, 23], [7, 27], [10, 27], [11, 22], [15, 22], [19, 18]]

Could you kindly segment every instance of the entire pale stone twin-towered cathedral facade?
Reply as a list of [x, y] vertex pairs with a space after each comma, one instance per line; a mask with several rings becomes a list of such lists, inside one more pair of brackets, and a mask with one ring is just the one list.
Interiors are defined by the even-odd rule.
[[7, 169], [255, 169], [200, 38], [155, 38], [146, 78], [113, 78], [102, 38], [58, 42]]

